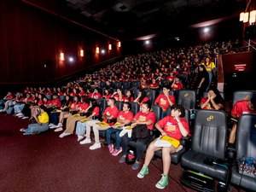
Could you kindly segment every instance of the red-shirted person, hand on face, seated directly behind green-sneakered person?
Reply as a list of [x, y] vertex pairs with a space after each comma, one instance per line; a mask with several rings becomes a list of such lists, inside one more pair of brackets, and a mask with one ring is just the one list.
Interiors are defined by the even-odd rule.
[[161, 119], [166, 117], [167, 109], [173, 104], [175, 104], [175, 97], [172, 95], [169, 95], [169, 87], [163, 86], [163, 93], [161, 93], [159, 96], [156, 97], [154, 101], [154, 105], [160, 106], [162, 108], [162, 116]]

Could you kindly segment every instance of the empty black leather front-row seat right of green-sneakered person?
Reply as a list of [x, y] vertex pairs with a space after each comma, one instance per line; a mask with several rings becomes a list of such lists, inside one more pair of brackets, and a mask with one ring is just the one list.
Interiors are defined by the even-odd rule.
[[183, 154], [182, 167], [225, 182], [228, 170], [224, 166], [207, 165], [204, 161], [206, 158], [214, 161], [225, 160], [227, 134], [226, 113], [199, 110], [195, 116], [192, 148]]

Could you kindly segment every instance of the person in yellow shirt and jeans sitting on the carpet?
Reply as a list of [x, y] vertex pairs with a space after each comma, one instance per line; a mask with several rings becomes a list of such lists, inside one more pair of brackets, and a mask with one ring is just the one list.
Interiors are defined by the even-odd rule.
[[20, 129], [20, 131], [24, 132], [23, 135], [34, 135], [49, 129], [49, 115], [46, 113], [47, 108], [41, 105], [38, 110], [38, 116], [36, 113], [33, 114], [33, 118], [37, 123], [28, 125], [27, 129]]

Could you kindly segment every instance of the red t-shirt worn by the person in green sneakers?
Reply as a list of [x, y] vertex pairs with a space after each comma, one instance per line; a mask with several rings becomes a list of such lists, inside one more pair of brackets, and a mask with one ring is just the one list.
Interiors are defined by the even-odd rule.
[[[180, 121], [183, 124], [186, 131], [188, 131], [188, 134], [189, 134], [188, 122], [183, 118], [180, 118]], [[183, 135], [181, 134], [181, 132], [178, 128], [177, 120], [174, 119], [172, 116], [166, 116], [165, 118], [160, 119], [160, 121], [158, 121], [157, 124], [160, 125], [160, 127], [164, 129], [164, 131], [166, 132], [166, 134], [168, 136], [171, 136], [177, 140], [180, 140], [183, 137]]]

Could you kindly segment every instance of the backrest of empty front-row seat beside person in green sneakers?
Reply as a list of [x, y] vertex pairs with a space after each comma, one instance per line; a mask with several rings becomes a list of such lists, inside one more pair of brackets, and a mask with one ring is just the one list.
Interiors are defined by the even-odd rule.
[[192, 150], [224, 160], [227, 134], [226, 113], [199, 110], [195, 115]]

